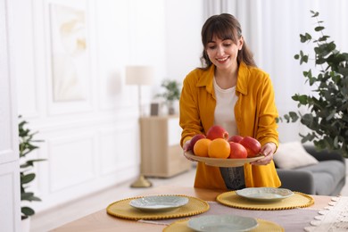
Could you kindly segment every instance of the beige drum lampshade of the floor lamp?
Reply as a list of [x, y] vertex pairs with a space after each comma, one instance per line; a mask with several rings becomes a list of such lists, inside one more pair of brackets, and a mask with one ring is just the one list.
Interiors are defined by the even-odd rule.
[[153, 83], [153, 67], [151, 66], [127, 66], [126, 85], [151, 85]]

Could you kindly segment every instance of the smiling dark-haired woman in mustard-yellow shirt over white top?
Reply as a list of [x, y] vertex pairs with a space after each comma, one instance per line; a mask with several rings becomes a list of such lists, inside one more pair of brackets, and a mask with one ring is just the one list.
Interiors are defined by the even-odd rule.
[[195, 187], [236, 190], [280, 186], [273, 162], [278, 147], [278, 112], [269, 75], [256, 67], [239, 22], [228, 13], [205, 21], [202, 42], [203, 68], [186, 76], [180, 97], [184, 151], [195, 134], [220, 125], [230, 136], [256, 138], [265, 157], [237, 168], [198, 162]]

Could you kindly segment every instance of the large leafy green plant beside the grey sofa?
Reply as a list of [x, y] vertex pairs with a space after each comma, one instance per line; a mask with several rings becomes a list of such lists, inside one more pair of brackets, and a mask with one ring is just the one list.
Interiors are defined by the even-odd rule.
[[[337, 151], [348, 157], [348, 54], [336, 50], [334, 41], [328, 41], [324, 35], [319, 12], [313, 12], [317, 20], [314, 28], [317, 38], [311, 34], [300, 35], [302, 43], [313, 43], [314, 54], [305, 54], [302, 50], [294, 58], [302, 63], [313, 62], [313, 69], [303, 71], [305, 82], [313, 89], [313, 94], [295, 94], [293, 100], [298, 108], [307, 111], [288, 112], [286, 122], [300, 120], [310, 129], [301, 135], [302, 143], [312, 141], [318, 150]], [[278, 120], [282, 121], [280, 117]]]

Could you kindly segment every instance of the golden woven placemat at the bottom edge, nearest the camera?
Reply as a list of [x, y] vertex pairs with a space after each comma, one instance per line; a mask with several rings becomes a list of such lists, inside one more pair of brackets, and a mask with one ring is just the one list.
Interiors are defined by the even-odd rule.
[[[163, 228], [163, 232], [193, 232], [192, 228], [187, 227], [187, 222], [189, 219], [186, 220], [177, 220], [170, 225], [168, 225], [166, 228]], [[284, 232], [285, 229], [280, 227], [278, 224], [271, 222], [269, 220], [257, 220], [259, 222], [259, 226], [257, 228], [254, 228], [250, 231], [252, 232]]]

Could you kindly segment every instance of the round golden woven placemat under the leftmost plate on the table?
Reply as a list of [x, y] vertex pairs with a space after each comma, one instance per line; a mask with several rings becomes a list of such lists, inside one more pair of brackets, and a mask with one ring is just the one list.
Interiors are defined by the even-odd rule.
[[178, 196], [187, 197], [188, 203], [171, 211], [140, 211], [129, 205], [130, 201], [144, 196], [127, 198], [115, 203], [111, 203], [106, 208], [106, 211], [112, 216], [125, 220], [163, 220], [193, 216], [209, 210], [209, 204], [199, 198], [187, 195]]

